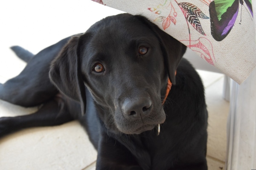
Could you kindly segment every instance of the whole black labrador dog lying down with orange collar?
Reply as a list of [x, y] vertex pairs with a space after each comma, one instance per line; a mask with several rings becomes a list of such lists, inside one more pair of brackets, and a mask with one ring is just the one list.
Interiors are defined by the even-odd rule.
[[44, 104], [0, 118], [0, 134], [78, 119], [98, 151], [97, 170], [207, 170], [204, 87], [185, 51], [145, 17], [106, 17], [0, 85], [3, 100]]

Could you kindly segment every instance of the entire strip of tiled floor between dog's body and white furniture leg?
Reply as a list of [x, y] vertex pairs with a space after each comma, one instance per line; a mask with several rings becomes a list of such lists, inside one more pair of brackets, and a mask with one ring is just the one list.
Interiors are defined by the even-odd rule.
[[226, 125], [229, 102], [222, 98], [224, 75], [198, 71], [204, 82], [208, 119], [207, 162], [209, 170], [224, 170], [226, 158]]

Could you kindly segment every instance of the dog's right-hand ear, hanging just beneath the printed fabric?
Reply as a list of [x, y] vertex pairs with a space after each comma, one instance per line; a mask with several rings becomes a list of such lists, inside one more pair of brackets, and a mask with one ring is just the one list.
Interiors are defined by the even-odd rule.
[[140, 15], [135, 17], [143, 21], [156, 33], [163, 51], [165, 67], [168, 71], [169, 79], [171, 80], [172, 84], [175, 84], [175, 71], [180, 63], [180, 59], [186, 52], [186, 45], [183, 45], [181, 42], [162, 31], [157, 25], [151, 23], [145, 17]]

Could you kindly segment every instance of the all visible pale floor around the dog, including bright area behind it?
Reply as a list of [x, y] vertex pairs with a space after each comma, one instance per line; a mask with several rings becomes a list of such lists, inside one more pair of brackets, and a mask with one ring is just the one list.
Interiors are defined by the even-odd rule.
[[[0, 83], [15, 77], [26, 65], [9, 50], [10, 46], [21, 45], [35, 54], [63, 37], [84, 32], [102, 17], [122, 13], [89, 0], [62, 0], [61, 8], [59, 4], [60, 0], [0, 2], [0, 6], [4, 6], [0, 15], [5, 16], [0, 20]], [[84, 6], [90, 8], [82, 10]], [[70, 8], [72, 13], [67, 13]], [[98, 15], [83, 17], [84, 22], [77, 17], [92, 13]], [[229, 110], [229, 103], [222, 99], [224, 76], [207, 71], [199, 73], [206, 88], [209, 111], [208, 167], [221, 170], [225, 166]], [[26, 115], [36, 110], [37, 107], [23, 108], [0, 100], [0, 117]], [[96, 151], [76, 121], [55, 127], [29, 128], [0, 139], [1, 170], [94, 170], [95, 160]]]

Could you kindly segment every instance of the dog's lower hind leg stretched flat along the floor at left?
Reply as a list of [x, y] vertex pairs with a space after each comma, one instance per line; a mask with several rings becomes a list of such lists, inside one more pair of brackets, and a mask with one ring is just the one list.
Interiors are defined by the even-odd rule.
[[61, 98], [51, 99], [37, 112], [16, 117], [0, 118], [0, 137], [26, 127], [61, 125], [73, 120], [67, 104]]

